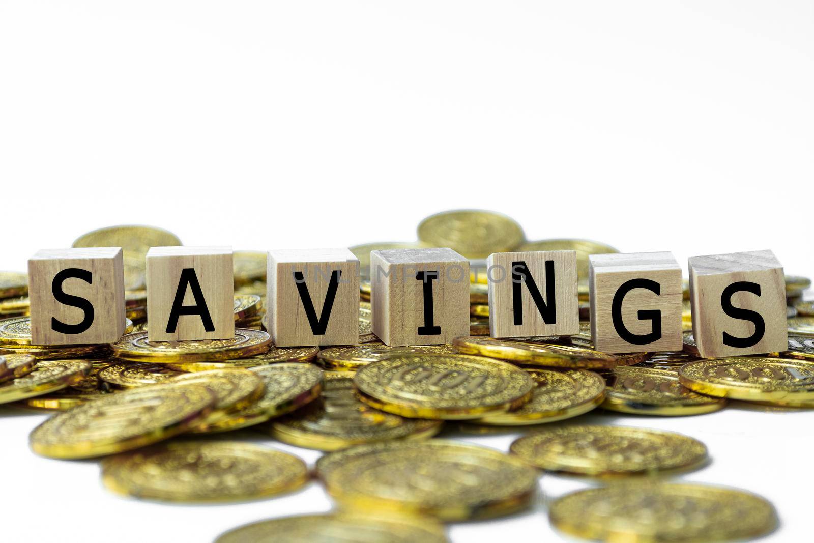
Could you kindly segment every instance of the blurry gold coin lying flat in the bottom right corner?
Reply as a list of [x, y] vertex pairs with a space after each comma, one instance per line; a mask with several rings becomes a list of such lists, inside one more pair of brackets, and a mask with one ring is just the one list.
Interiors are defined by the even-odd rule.
[[772, 504], [755, 494], [654, 481], [567, 494], [551, 504], [549, 518], [558, 530], [592, 541], [745, 541], [777, 527]]

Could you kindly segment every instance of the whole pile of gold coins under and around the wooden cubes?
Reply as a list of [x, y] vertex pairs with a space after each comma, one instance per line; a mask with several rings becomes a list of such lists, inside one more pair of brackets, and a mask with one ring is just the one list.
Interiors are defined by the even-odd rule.
[[[130, 322], [112, 345], [31, 344], [26, 276], [0, 272], [0, 403], [53, 414], [31, 432], [34, 453], [98, 458], [107, 488], [151, 501], [255, 500], [316, 479], [338, 506], [325, 515], [258, 519], [218, 536], [221, 543], [449, 541], [446, 522], [527, 510], [543, 472], [592, 482], [547, 504], [550, 523], [571, 536], [732, 541], [777, 526], [771, 504], [754, 494], [669, 480], [715, 456], [693, 437], [580, 417], [637, 414], [658, 425], [726, 409], [731, 400], [814, 408], [807, 278], [786, 278], [786, 352], [701, 359], [687, 311], [681, 352], [602, 353], [587, 322], [588, 257], [616, 249], [585, 239], [529, 241], [510, 217], [461, 210], [428, 217], [414, 241], [352, 247], [361, 261], [359, 344], [272, 344], [261, 251], [234, 253], [234, 338], [151, 343], [144, 256], [151, 246], [179, 244], [147, 226], [77, 239], [76, 247], [124, 248]], [[452, 247], [471, 259], [469, 336], [389, 347], [373, 334], [370, 252], [409, 247]], [[554, 249], [577, 254], [580, 334], [486, 337], [483, 259]], [[505, 429], [523, 433], [507, 450], [456, 439]], [[291, 453], [247, 440], [251, 432], [324, 455], [312, 472]]]

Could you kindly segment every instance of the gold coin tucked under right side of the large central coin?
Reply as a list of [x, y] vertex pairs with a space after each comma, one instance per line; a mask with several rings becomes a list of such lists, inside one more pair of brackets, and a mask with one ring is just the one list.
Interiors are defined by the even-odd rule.
[[472, 421], [489, 426], [553, 423], [588, 413], [602, 403], [605, 381], [588, 370], [527, 370], [536, 382], [534, 395], [509, 413]]

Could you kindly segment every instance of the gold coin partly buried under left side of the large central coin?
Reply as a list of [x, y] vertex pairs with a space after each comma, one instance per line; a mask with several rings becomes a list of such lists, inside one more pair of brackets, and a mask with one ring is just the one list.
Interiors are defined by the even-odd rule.
[[404, 418], [365, 405], [353, 392], [353, 375], [326, 372], [320, 400], [275, 420], [271, 435], [297, 447], [335, 451], [378, 441], [426, 439], [440, 430], [440, 421]]

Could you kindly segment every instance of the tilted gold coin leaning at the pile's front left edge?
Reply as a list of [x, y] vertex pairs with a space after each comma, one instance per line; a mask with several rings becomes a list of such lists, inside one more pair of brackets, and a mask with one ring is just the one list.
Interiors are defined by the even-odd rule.
[[156, 384], [107, 394], [34, 428], [31, 449], [49, 458], [94, 458], [177, 436], [215, 405], [208, 388]]

